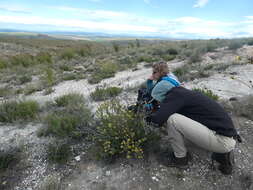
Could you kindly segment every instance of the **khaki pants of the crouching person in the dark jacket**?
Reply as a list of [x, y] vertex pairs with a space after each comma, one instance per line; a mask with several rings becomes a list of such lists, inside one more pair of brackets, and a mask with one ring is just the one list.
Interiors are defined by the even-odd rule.
[[168, 136], [174, 154], [178, 158], [186, 156], [184, 138], [194, 144], [216, 153], [230, 152], [235, 147], [235, 140], [218, 135], [215, 131], [181, 114], [173, 114], [168, 119]]

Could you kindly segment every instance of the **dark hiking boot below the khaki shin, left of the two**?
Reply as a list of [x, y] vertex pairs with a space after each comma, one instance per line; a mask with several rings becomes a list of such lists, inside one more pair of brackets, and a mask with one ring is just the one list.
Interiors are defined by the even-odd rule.
[[188, 167], [188, 161], [189, 161], [189, 154], [188, 153], [183, 158], [177, 158], [177, 157], [175, 157], [174, 153], [171, 152], [171, 154], [168, 157], [168, 165], [167, 166], [176, 167], [176, 168], [180, 168], [180, 169], [186, 169]]

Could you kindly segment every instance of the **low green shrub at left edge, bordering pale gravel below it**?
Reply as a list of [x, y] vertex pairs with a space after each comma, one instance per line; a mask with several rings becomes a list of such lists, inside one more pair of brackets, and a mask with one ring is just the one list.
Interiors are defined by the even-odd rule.
[[34, 120], [38, 113], [39, 104], [36, 101], [7, 101], [0, 104], [0, 122]]

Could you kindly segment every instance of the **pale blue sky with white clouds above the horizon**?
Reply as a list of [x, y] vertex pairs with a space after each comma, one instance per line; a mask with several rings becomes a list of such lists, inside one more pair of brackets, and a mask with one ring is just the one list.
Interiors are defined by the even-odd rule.
[[0, 0], [0, 29], [253, 37], [252, 0]]

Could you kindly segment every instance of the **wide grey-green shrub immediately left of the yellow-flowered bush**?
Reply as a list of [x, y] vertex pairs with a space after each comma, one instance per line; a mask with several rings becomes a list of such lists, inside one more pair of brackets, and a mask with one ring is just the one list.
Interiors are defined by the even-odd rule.
[[40, 129], [38, 136], [80, 139], [88, 135], [92, 115], [83, 96], [64, 95], [56, 99], [54, 106], [45, 116], [45, 127]]

